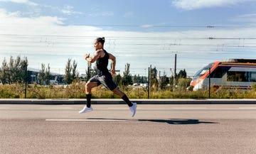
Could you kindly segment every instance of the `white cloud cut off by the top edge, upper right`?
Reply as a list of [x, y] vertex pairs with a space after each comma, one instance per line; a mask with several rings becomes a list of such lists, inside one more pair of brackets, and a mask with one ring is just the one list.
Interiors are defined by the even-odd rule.
[[174, 0], [171, 4], [184, 10], [203, 9], [218, 6], [230, 6], [253, 0]]

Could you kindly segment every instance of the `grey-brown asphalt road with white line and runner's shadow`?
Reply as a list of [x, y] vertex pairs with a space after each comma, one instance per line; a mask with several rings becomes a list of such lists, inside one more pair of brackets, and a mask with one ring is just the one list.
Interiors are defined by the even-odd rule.
[[0, 153], [256, 153], [255, 104], [0, 104]]

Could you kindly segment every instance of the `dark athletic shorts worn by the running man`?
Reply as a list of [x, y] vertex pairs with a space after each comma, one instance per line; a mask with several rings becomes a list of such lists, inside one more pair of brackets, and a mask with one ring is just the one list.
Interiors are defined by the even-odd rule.
[[110, 72], [106, 72], [104, 75], [95, 75], [94, 77], [90, 78], [89, 81], [97, 82], [97, 86], [103, 84], [104, 87], [110, 89], [111, 91], [117, 87], [117, 84], [113, 82]]

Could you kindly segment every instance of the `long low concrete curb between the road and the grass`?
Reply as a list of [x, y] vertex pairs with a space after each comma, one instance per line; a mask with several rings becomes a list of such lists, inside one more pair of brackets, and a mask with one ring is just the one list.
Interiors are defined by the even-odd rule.
[[[256, 104], [256, 99], [131, 99], [137, 104]], [[86, 99], [0, 99], [0, 104], [85, 104]], [[125, 104], [122, 99], [92, 99], [92, 104]]]

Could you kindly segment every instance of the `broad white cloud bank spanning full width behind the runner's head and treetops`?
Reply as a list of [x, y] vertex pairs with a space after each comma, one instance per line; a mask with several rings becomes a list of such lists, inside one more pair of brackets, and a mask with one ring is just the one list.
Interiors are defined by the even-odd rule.
[[[21, 57], [28, 57], [29, 67], [37, 68], [38, 64], [50, 63], [53, 72], [63, 72], [68, 58], [73, 58], [78, 61], [78, 70], [83, 73], [86, 62], [82, 56], [85, 53], [94, 52], [93, 40], [100, 36], [105, 36], [105, 48], [118, 58], [118, 70], [124, 70], [124, 65], [129, 62], [132, 74], [141, 72], [141, 75], [144, 68], [149, 67], [150, 64], [157, 68], [172, 67], [171, 60], [174, 55], [172, 52], [178, 52], [178, 61], [181, 62], [178, 67], [186, 68], [191, 75], [202, 64], [205, 65], [215, 60], [214, 58], [222, 60], [227, 56], [223, 55], [224, 52], [237, 50], [236, 45], [256, 44], [254, 39], [207, 39], [209, 37], [255, 38], [255, 28], [213, 28], [166, 32], [103, 31], [95, 26], [66, 26], [65, 18], [56, 16], [28, 18], [21, 17], [19, 14], [20, 12], [0, 9], [0, 62], [9, 55], [21, 55]], [[240, 50], [243, 50], [240, 57], [256, 58], [253, 50], [250, 51], [251, 53], [245, 53], [245, 48]], [[246, 48], [246, 50], [249, 49]], [[182, 58], [186, 57], [184, 62]]]

